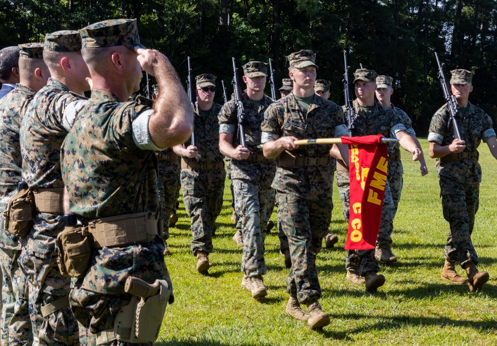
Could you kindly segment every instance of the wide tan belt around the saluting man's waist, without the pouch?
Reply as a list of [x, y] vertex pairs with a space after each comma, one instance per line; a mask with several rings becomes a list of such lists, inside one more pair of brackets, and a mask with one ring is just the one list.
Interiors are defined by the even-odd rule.
[[93, 247], [124, 246], [150, 242], [159, 234], [153, 213], [137, 213], [88, 220], [87, 230], [93, 236]]

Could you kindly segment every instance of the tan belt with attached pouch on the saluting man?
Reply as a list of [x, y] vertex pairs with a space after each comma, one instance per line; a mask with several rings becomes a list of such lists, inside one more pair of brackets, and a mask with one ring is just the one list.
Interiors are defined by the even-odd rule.
[[164, 231], [162, 220], [152, 212], [88, 220], [87, 225], [75, 224], [76, 220], [74, 214], [64, 215], [66, 228], [56, 239], [57, 264], [68, 277], [86, 274], [92, 249], [147, 243]]

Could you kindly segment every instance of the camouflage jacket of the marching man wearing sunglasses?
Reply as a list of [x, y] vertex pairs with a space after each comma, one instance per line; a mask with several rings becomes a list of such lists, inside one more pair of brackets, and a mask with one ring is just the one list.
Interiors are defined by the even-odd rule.
[[[204, 116], [195, 102], [195, 140], [197, 145], [197, 156], [193, 159], [198, 164], [212, 164], [221, 162], [224, 155], [219, 151], [219, 120], [218, 114], [221, 110], [219, 103], [213, 103], [208, 116]], [[191, 139], [184, 143], [184, 147], [191, 144]]]

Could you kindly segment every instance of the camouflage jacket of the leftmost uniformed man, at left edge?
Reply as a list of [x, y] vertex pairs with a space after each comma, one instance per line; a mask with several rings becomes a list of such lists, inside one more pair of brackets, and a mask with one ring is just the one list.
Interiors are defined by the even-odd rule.
[[3, 229], [1, 212], [16, 191], [17, 182], [22, 179], [19, 128], [34, 95], [30, 87], [17, 84], [0, 100], [0, 247], [4, 249], [20, 250], [17, 237]]

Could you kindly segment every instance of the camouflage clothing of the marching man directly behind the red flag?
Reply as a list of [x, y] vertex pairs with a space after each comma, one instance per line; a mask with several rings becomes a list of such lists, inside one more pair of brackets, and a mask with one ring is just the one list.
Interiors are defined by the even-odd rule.
[[[366, 70], [366, 69], [362, 69]], [[361, 71], [361, 70], [357, 70]], [[356, 71], [356, 72], [357, 72]], [[366, 74], [371, 74], [369, 71]], [[373, 71], [374, 72], [374, 71]], [[365, 78], [373, 78], [373, 75]], [[375, 80], [376, 76], [372, 79]], [[352, 102], [355, 110], [355, 129], [354, 136], [368, 136], [382, 134], [385, 137], [389, 137], [390, 133], [394, 135], [399, 131], [406, 131], [406, 127], [403, 125], [402, 119], [398, 113], [393, 110], [383, 107], [378, 102], [375, 102], [374, 108], [371, 111], [366, 111], [361, 108], [357, 102], [354, 100]], [[348, 172], [345, 172], [348, 174]], [[342, 177], [342, 172], [337, 171], [337, 185], [340, 197], [342, 197], [347, 191], [349, 191], [349, 179], [347, 175], [347, 180], [345, 181]], [[338, 178], [340, 177], [340, 181]], [[342, 179], [343, 178], [343, 179]], [[342, 208], [349, 211], [348, 205], [343, 205]], [[390, 246], [392, 244], [392, 232], [393, 232], [393, 201], [392, 193], [390, 191], [390, 185], [387, 183], [385, 185], [385, 197], [383, 199], [383, 207], [381, 212], [380, 220], [380, 230], [378, 233], [377, 245], [379, 247]], [[347, 218], [348, 219], [348, 218]], [[348, 223], [348, 221], [347, 221]], [[347, 250], [347, 255], [345, 259], [345, 267], [347, 270], [355, 270], [359, 275], [364, 276], [366, 271], [379, 271], [380, 268], [376, 259], [374, 259], [374, 250]], [[368, 270], [367, 270], [368, 269]]]

